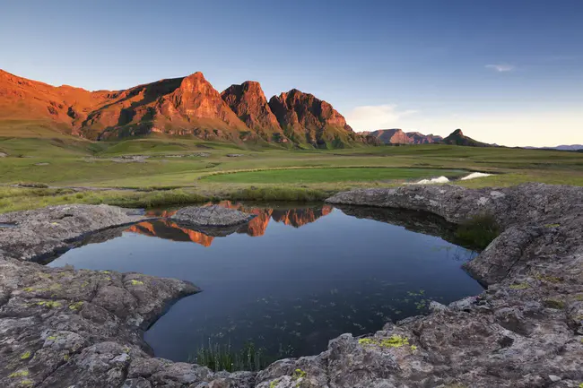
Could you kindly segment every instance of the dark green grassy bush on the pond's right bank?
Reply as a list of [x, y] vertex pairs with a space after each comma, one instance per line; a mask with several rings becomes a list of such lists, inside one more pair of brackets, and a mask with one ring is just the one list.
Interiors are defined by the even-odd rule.
[[460, 245], [483, 250], [500, 236], [500, 227], [492, 215], [475, 216], [457, 227], [456, 238]]

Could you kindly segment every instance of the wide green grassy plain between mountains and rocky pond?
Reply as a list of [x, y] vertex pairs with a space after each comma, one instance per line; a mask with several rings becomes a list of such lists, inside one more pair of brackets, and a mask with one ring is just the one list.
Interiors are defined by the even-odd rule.
[[[184, 138], [89, 142], [42, 134], [0, 137], [0, 152], [8, 154], [0, 158], [0, 212], [57, 203], [309, 201], [354, 187], [402, 185], [465, 171], [496, 175], [457, 185], [583, 185], [581, 152], [448, 145], [286, 151]], [[148, 158], [119, 158], [128, 155]], [[51, 188], [11, 186], [22, 183]]]

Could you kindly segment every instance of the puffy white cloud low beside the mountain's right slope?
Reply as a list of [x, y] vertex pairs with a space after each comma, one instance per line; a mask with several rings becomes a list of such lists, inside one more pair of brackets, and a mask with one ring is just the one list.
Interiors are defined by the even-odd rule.
[[416, 110], [399, 110], [396, 105], [366, 105], [353, 108], [346, 121], [356, 131], [374, 131], [398, 125], [400, 119], [417, 113]]

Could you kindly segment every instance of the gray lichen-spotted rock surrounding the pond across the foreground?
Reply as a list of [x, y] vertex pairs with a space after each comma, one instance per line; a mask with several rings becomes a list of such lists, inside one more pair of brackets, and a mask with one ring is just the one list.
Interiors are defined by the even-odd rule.
[[318, 356], [281, 360], [259, 373], [213, 373], [203, 366], [152, 358], [142, 339], [172, 301], [198, 290], [192, 284], [26, 262], [135, 216], [109, 206], [81, 205], [13, 213], [0, 216], [0, 223], [16, 223], [0, 228], [0, 386], [453, 388], [583, 383], [583, 188], [406, 186], [336, 194], [328, 202], [430, 211], [453, 222], [492, 214], [503, 232], [467, 264], [488, 290], [450, 306], [432, 303], [431, 315], [387, 323], [366, 338], [344, 334]]

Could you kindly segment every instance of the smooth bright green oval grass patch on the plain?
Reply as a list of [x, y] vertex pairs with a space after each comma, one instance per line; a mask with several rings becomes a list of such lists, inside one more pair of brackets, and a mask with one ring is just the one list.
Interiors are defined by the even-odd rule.
[[287, 168], [231, 172], [204, 177], [211, 182], [286, 184], [404, 180], [422, 177], [460, 177], [467, 171], [435, 168]]

